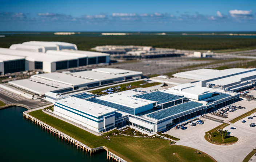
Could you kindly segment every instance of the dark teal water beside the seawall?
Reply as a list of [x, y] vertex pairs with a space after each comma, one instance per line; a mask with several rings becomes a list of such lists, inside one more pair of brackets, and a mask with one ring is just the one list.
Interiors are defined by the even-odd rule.
[[23, 119], [22, 112], [26, 110], [18, 106], [0, 110], [1, 162], [107, 162], [107, 152], [90, 156], [31, 121]]

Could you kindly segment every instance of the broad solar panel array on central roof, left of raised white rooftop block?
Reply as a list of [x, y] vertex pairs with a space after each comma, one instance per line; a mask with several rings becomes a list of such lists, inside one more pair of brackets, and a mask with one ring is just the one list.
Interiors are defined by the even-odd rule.
[[133, 95], [133, 97], [147, 99], [150, 101], [157, 101], [157, 104], [183, 98], [183, 96], [180, 96], [180, 95], [174, 95], [174, 94], [164, 93], [160, 91], [155, 91], [155, 92], [145, 93], [145, 94], [137, 94], [137, 95]]

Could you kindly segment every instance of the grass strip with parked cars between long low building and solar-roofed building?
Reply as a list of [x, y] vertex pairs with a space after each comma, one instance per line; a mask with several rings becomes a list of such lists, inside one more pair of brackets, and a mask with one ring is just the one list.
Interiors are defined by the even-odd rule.
[[[120, 84], [117, 86], [111, 86], [108, 88], [97, 89], [97, 90], [93, 90], [93, 91], [89, 91], [89, 92], [91, 92], [93, 94], [97, 94], [97, 95], [102, 95], [102, 94], [108, 94], [107, 92], [102, 92], [102, 91], [109, 89], [109, 88], [113, 88], [112, 92], [121, 92], [121, 91], [135, 89], [135, 88], [147, 88], [147, 87], [151, 87], [151, 86], [155, 86], [155, 85], [159, 85], [159, 84], [161, 84], [161, 83], [159, 83], [159, 82], [147, 83], [146, 81], [137, 81], [137, 82], [131, 82], [131, 83], [126, 83], [126, 84]], [[117, 87], [120, 87], [120, 88], [116, 89]]]

